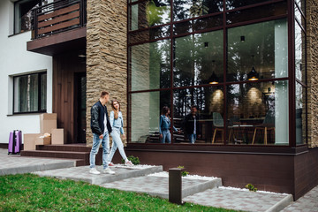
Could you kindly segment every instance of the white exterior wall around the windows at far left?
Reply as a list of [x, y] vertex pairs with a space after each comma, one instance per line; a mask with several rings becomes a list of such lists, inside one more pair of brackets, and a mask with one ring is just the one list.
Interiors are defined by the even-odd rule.
[[13, 3], [0, 0], [0, 143], [8, 143], [9, 133], [40, 133], [40, 115], [12, 115], [12, 76], [47, 72], [47, 112], [52, 112], [52, 57], [27, 51], [31, 32], [13, 34]]

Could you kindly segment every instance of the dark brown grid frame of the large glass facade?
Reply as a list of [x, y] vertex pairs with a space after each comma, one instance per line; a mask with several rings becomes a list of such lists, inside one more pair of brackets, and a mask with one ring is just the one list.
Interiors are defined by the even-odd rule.
[[[139, 4], [141, 2], [145, 2], [147, 0], [140, 0], [140, 1], [136, 1], [133, 3], [128, 3], [127, 5], [127, 14], [129, 11], [129, 7], [133, 4]], [[245, 9], [250, 9], [250, 8], [254, 8], [254, 7], [258, 7], [261, 5], [267, 5], [267, 4], [275, 4], [275, 3], [279, 3], [279, 2], [287, 2], [287, 14], [285, 15], [278, 15], [278, 16], [272, 16], [269, 18], [262, 18], [262, 19], [254, 19], [254, 20], [249, 20], [249, 21], [245, 21], [245, 22], [240, 22], [237, 24], [232, 24], [232, 25], [227, 25], [226, 24], [226, 13], [229, 11], [238, 11], [238, 10], [245, 10]], [[136, 93], [143, 93], [143, 92], [154, 92], [154, 91], [167, 91], [170, 90], [170, 111], [171, 111], [171, 117], [173, 117], [173, 91], [176, 89], [184, 89], [184, 88], [192, 88], [192, 87], [173, 87], [173, 63], [170, 63], [170, 88], [158, 88], [158, 89], [150, 89], [150, 90], [139, 90], [139, 91], [130, 91], [130, 87], [131, 87], [131, 79], [130, 79], [130, 57], [129, 57], [129, 49], [131, 46], [134, 45], [140, 45], [143, 43], [148, 43], [148, 42], [156, 42], [156, 41], [160, 41], [160, 40], [166, 40], [169, 39], [170, 40], [170, 52], [173, 52], [173, 39], [177, 38], [177, 37], [181, 37], [181, 36], [186, 36], [189, 34], [198, 34], [198, 33], [204, 33], [204, 32], [211, 32], [217, 29], [223, 29], [223, 83], [219, 83], [217, 86], [223, 86], [223, 90], [226, 90], [226, 86], [227, 85], [231, 85], [231, 84], [240, 84], [240, 83], [246, 83], [247, 81], [239, 81], [239, 82], [227, 82], [226, 81], [226, 65], [227, 65], [227, 50], [226, 50], [226, 36], [227, 36], [227, 29], [231, 28], [231, 27], [239, 27], [239, 26], [246, 26], [246, 25], [250, 25], [250, 24], [254, 24], [254, 23], [261, 23], [263, 21], [269, 21], [269, 20], [275, 20], [275, 19], [287, 19], [287, 25], [288, 25], [288, 77], [287, 78], [282, 78], [282, 79], [261, 79], [258, 80], [255, 83], [259, 83], [261, 81], [276, 81], [276, 80], [287, 80], [288, 81], [288, 85], [289, 85], [289, 145], [285, 145], [285, 146], [281, 146], [281, 147], [276, 147], [276, 146], [272, 146], [272, 145], [246, 145], [244, 147], [246, 148], [261, 148], [261, 149], [270, 149], [270, 148], [275, 148], [275, 149], [282, 149], [282, 148], [302, 148], [304, 147], [304, 149], [307, 149], [307, 142], [306, 144], [302, 144], [302, 145], [296, 145], [296, 139], [295, 139], [295, 127], [296, 127], [296, 117], [295, 117], [295, 111], [296, 111], [296, 103], [295, 103], [295, 87], [296, 87], [296, 81], [299, 82], [298, 79], [296, 79], [295, 77], [295, 64], [292, 63], [295, 61], [295, 43], [294, 43], [294, 23], [295, 23], [295, 15], [294, 15], [294, 7], [297, 6], [299, 8], [299, 5], [294, 1], [285, 1], [285, 0], [272, 0], [272, 1], [267, 1], [267, 2], [263, 2], [263, 3], [259, 3], [259, 4], [251, 4], [251, 5], [247, 5], [247, 6], [243, 6], [243, 7], [239, 7], [239, 8], [235, 8], [233, 10], [226, 10], [226, 4], [225, 4], [225, 0], [223, 0], [223, 11], [219, 11], [219, 12], [215, 12], [215, 13], [211, 13], [205, 16], [201, 16], [201, 17], [196, 17], [193, 19], [202, 19], [202, 17], [210, 17], [210, 16], [216, 16], [217, 14], [223, 14], [223, 27], [215, 27], [215, 28], [208, 28], [208, 29], [204, 29], [198, 32], [193, 32], [193, 33], [187, 33], [187, 34], [178, 34], [175, 35], [173, 34], [173, 25], [176, 23], [180, 23], [183, 21], [188, 21], [190, 19], [186, 19], [186, 20], [179, 20], [179, 21], [170, 21], [170, 23], [168, 24], [164, 24], [161, 26], [155, 26], [155, 27], [163, 27], [163, 26], [170, 26], [170, 36], [168, 37], [164, 37], [164, 38], [160, 38], [160, 39], [155, 39], [155, 40], [149, 40], [147, 42], [136, 42], [133, 44], [129, 44], [129, 34], [131, 33], [136, 33], [139, 31], [144, 31], [144, 30], [148, 30], [149, 28], [155, 28], [155, 27], [147, 27], [147, 28], [142, 28], [142, 29], [138, 29], [138, 30], [134, 30], [134, 31], [129, 31], [129, 26], [127, 25], [127, 123], [130, 123], [131, 121], [131, 95], [132, 94], [136, 94]], [[301, 15], [306, 19], [306, 14], [304, 14], [304, 12], [302, 10], [299, 9], [299, 11], [301, 12]], [[170, 20], [173, 19], [173, 1], [170, 0]], [[130, 23], [129, 17], [127, 16], [127, 23]], [[300, 25], [301, 26], [301, 25]], [[305, 34], [306, 34], [306, 26], [305, 29], [302, 27], [302, 29], [304, 30]], [[307, 41], [305, 41], [305, 45], [307, 48]], [[307, 50], [307, 49], [306, 49]], [[306, 57], [307, 57], [307, 53], [305, 53]], [[307, 61], [307, 58], [305, 59]], [[170, 54], [170, 62], [173, 62], [173, 54]], [[307, 63], [306, 63], [306, 84], [304, 84], [303, 82], [299, 82], [303, 87], [305, 87], [306, 89], [306, 101], [307, 101]], [[251, 81], [248, 81], [248, 83], [251, 83]], [[214, 87], [214, 85], [199, 85], [199, 86], [193, 86], [193, 87]], [[223, 107], [226, 108], [226, 93], [224, 95], [224, 103], [223, 103]], [[306, 114], [307, 114], [307, 103], [306, 103]], [[226, 114], [224, 115], [224, 120], [226, 120]], [[307, 123], [307, 116], [306, 116], [306, 123]], [[173, 125], [173, 118], [171, 120], [171, 125]], [[153, 146], [153, 147], [163, 147], [163, 149], [165, 147], [173, 147], [173, 146], [178, 146], [178, 147], [183, 147], [185, 146], [185, 144], [174, 144], [173, 143], [173, 133], [171, 133], [171, 144], [169, 145], [164, 145], [164, 144], [139, 144], [139, 143], [132, 143], [130, 141], [131, 138], [131, 126], [128, 125], [128, 129], [127, 129], [127, 140], [128, 140], [128, 147], [132, 147], [132, 148], [136, 148], [138, 149], [138, 147], [140, 146]], [[307, 132], [307, 125], [306, 125], [306, 132]], [[226, 127], [224, 127], [224, 132], [223, 135], [225, 136], [227, 133], [227, 129]], [[211, 147], [212, 149], [214, 147], [217, 147], [219, 145], [210, 145], [210, 144], [206, 144], [206, 145], [194, 145], [192, 146], [193, 148], [191, 149], [197, 149], [198, 147], [201, 146], [207, 146], [207, 147]], [[225, 147], [225, 148], [231, 148], [234, 147], [234, 145], [231, 144], [227, 144], [226, 140], [224, 140], [223, 144], [221, 145], [221, 147]], [[238, 147], [238, 146], [235, 146]], [[238, 148], [243, 149], [244, 147], [239, 146]], [[186, 149], [185, 149], [186, 150]], [[184, 150], [182, 150], [184, 152]], [[249, 151], [249, 150], [248, 150]], [[253, 152], [254, 150], [252, 150]], [[261, 150], [262, 152], [263, 150]], [[278, 150], [278, 152], [281, 152], [281, 150]]]

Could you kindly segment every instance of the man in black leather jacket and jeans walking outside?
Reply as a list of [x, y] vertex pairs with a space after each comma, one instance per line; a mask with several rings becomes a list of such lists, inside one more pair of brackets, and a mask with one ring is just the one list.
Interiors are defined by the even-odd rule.
[[101, 172], [95, 168], [95, 156], [102, 143], [102, 172], [115, 174], [115, 171], [110, 170], [107, 163], [107, 157], [110, 153], [110, 135], [111, 126], [105, 104], [109, 102], [110, 95], [106, 91], [102, 91], [100, 100], [91, 108], [91, 129], [93, 132], [93, 147], [89, 155], [89, 173], [100, 174]]

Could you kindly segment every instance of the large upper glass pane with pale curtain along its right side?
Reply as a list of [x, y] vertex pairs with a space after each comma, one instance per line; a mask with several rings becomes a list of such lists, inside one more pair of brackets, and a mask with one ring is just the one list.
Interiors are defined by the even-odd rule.
[[279, 19], [228, 30], [228, 81], [287, 77], [287, 21]]

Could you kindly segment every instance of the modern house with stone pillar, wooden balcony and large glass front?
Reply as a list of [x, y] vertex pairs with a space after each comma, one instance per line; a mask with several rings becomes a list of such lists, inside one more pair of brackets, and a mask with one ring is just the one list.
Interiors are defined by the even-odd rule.
[[[9, 87], [2, 95], [9, 105], [2, 106], [0, 118], [11, 123], [3, 140], [9, 127], [27, 127], [23, 119], [36, 116], [30, 112], [54, 112], [67, 133], [64, 144], [86, 143], [89, 149], [90, 107], [107, 90], [121, 102], [126, 152], [142, 163], [164, 169], [184, 165], [192, 173], [222, 178], [225, 186], [250, 183], [295, 199], [318, 185], [316, 1], [6, 0], [0, 5], [7, 26], [2, 46], [27, 48], [19, 51], [26, 55], [19, 64], [12, 56], [16, 51], [1, 49], [2, 85]], [[26, 11], [32, 11], [32, 24], [22, 33]], [[27, 87], [34, 72], [38, 95]], [[25, 75], [27, 81], [19, 79]], [[37, 110], [25, 109], [32, 98]], [[192, 105], [200, 117], [194, 144], [183, 127]], [[159, 139], [163, 106], [170, 108], [171, 125], [182, 130], [171, 131], [169, 144]]]

